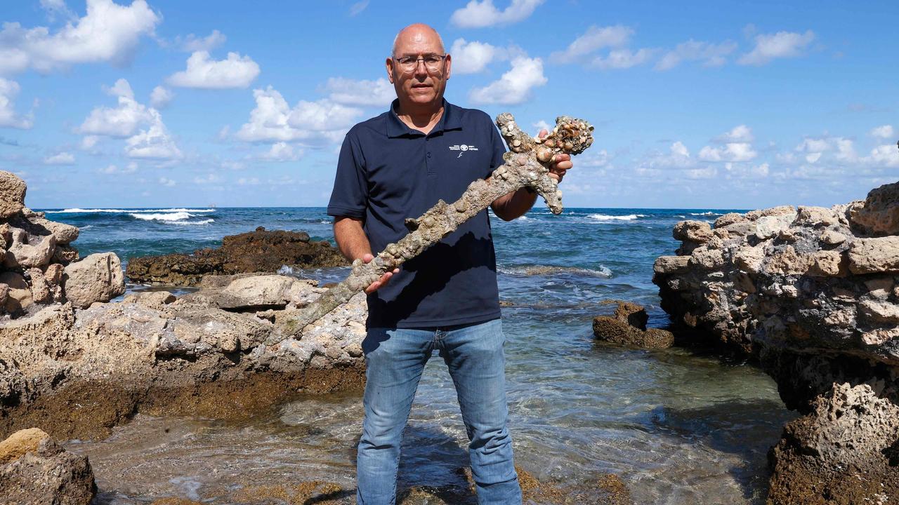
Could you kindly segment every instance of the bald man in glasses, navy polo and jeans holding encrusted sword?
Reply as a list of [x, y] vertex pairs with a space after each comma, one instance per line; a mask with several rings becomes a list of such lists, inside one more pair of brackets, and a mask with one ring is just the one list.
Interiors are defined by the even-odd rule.
[[[470, 182], [503, 164], [505, 147], [490, 117], [443, 100], [451, 64], [430, 26], [413, 24], [396, 35], [386, 62], [396, 101], [347, 133], [328, 204], [334, 238], [348, 259], [371, 261], [407, 233], [406, 217], [423, 214], [438, 199], [458, 199]], [[561, 181], [570, 158], [554, 161], [551, 173]], [[536, 198], [521, 189], [491, 207], [511, 220]], [[415, 389], [432, 350], [440, 350], [470, 439], [478, 502], [521, 503], [506, 429], [504, 339], [487, 211], [366, 292], [357, 502], [395, 502], [400, 441]]]

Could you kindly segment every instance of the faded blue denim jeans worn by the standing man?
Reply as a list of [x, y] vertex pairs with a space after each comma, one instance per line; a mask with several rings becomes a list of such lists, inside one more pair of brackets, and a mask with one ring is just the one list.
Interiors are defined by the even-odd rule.
[[429, 329], [371, 328], [365, 351], [365, 421], [356, 461], [356, 502], [396, 502], [400, 441], [432, 350], [440, 350], [456, 385], [468, 439], [477, 502], [521, 504], [506, 429], [503, 323], [463, 324]]

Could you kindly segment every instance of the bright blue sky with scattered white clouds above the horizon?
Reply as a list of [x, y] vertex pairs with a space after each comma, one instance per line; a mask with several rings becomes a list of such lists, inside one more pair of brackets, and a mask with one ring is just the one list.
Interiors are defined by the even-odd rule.
[[573, 207], [832, 205], [899, 180], [899, 2], [5, 2], [0, 169], [33, 208], [322, 206], [393, 98], [396, 31], [447, 98], [596, 142]]

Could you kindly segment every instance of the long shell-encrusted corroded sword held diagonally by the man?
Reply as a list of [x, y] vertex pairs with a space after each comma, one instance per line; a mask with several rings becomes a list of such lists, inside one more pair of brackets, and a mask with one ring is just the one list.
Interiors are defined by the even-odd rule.
[[546, 200], [553, 214], [562, 212], [562, 191], [558, 190], [556, 180], [549, 176], [549, 165], [554, 155], [579, 155], [593, 143], [590, 123], [560, 116], [556, 118], [556, 128], [546, 137], [530, 137], [518, 128], [512, 114], [504, 112], [497, 116], [496, 126], [509, 146], [509, 152], [503, 155], [503, 165], [498, 166], [488, 179], [469, 184], [453, 203], [441, 199], [421, 217], [406, 219], [408, 235], [396, 243], [387, 244], [384, 251], [368, 263], [358, 259], [353, 261], [352, 271], [346, 279], [309, 305], [298, 309], [284, 323], [277, 324], [265, 343], [275, 345], [298, 335], [309, 324], [348, 301], [386, 272], [437, 244], [462, 223], [489, 207], [495, 199], [514, 190], [532, 188]]

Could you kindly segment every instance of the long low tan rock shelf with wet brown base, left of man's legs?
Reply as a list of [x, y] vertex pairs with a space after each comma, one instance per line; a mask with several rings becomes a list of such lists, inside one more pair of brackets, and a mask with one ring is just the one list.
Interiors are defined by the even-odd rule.
[[0, 322], [0, 435], [36, 426], [95, 438], [135, 412], [246, 417], [299, 390], [359, 387], [364, 295], [301, 340], [263, 344], [322, 291], [279, 275], [218, 277], [181, 298], [138, 293]]

